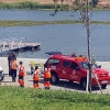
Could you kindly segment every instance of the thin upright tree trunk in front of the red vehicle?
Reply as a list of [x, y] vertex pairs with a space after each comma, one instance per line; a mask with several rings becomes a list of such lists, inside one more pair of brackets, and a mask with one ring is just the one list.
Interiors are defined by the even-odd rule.
[[89, 92], [91, 92], [91, 73], [92, 64], [90, 56], [90, 19], [89, 19], [89, 1], [86, 0], [86, 29], [87, 29], [87, 45], [88, 45], [88, 68], [89, 68]]

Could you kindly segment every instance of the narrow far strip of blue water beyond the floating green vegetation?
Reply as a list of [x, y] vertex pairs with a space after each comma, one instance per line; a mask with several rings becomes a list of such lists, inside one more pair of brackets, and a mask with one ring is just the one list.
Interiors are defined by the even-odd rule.
[[[79, 20], [80, 13], [74, 11], [59, 11], [52, 16], [53, 11], [40, 10], [0, 10], [0, 20], [34, 20], [34, 21], [56, 21], [56, 20]], [[110, 11], [90, 11], [92, 21], [110, 21]]]

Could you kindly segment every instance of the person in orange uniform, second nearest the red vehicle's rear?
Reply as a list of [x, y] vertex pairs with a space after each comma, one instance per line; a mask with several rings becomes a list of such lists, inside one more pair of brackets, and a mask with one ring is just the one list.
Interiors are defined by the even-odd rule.
[[35, 66], [35, 72], [33, 75], [33, 87], [34, 88], [40, 88], [38, 80], [40, 80], [40, 70], [38, 70], [38, 67]]

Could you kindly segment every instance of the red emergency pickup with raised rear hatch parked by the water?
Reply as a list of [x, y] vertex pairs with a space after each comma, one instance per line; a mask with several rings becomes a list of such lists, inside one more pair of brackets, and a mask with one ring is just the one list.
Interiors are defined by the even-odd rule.
[[[86, 57], [72, 57], [63, 54], [51, 55], [44, 67], [51, 68], [52, 84], [58, 84], [59, 79], [66, 79], [74, 82], [81, 84], [81, 87], [86, 89], [88, 61]], [[92, 65], [95, 75], [91, 75], [91, 86], [98, 86], [96, 78], [100, 86], [106, 88], [110, 84], [110, 73], [102, 69], [97, 64]]]

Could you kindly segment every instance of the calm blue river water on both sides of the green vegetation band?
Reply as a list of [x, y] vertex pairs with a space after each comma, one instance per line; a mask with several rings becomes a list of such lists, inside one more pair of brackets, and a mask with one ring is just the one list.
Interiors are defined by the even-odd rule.
[[[52, 11], [0, 10], [0, 20], [69, 20], [72, 12], [59, 12], [54, 18]], [[74, 13], [75, 15], [75, 13]], [[110, 11], [95, 11], [91, 20], [110, 21]], [[76, 13], [75, 18], [78, 18]], [[75, 19], [74, 18], [74, 19]], [[91, 25], [91, 55], [97, 61], [110, 62], [110, 25]], [[21, 53], [19, 57], [46, 58], [45, 52], [61, 51], [64, 54], [87, 54], [87, 32], [82, 24], [56, 24], [38, 26], [0, 28], [0, 38], [26, 37], [28, 42], [41, 43], [41, 51]]]

